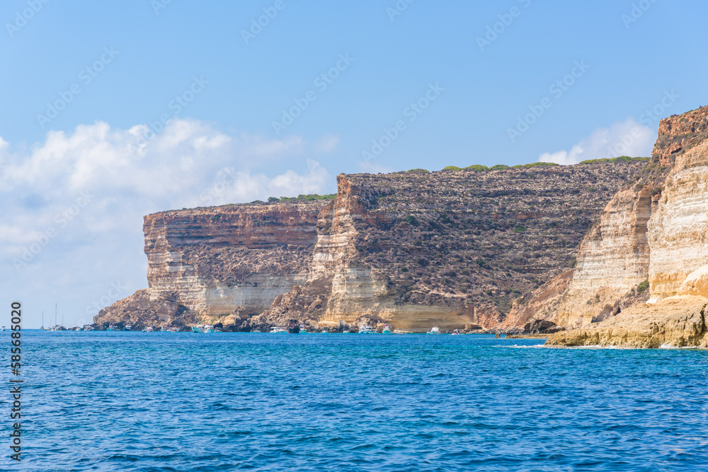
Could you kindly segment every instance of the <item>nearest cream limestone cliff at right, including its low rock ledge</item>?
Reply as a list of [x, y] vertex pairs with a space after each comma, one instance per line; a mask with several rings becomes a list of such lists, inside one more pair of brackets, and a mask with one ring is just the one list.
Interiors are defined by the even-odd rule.
[[[663, 330], [662, 343], [703, 346], [700, 326], [705, 326], [695, 317], [699, 312], [702, 316], [708, 303], [707, 117], [708, 107], [703, 107], [661, 122], [652, 160], [661, 172], [640, 179], [634, 191], [620, 191], [612, 200], [617, 204], [605, 208], [600, 229], [581, 245], [578, 266], [582, 264], [583, 271], [564, 294], [557, 319], [573, 324], [578, 317], [583, 321], [578, 324], [587, 326], [603, 305], [617, 302], [641, 280], [649, 281], [650, 305], [639, 303], [617, 320], [592, 324], [581, 334], [556, 335], [550, 342], [574, 344], [582, 338], [583, 343], [653, 346], [658, 338], [646, 341], [646, 333], [656, 325]], [[589, 300], [586, 305], [583, 299]], [[675, 320], [664, 312], [680, 320], [683, 314], [694, 317], [697, 334], [680, 334], [681, 329], [670, 327]]]

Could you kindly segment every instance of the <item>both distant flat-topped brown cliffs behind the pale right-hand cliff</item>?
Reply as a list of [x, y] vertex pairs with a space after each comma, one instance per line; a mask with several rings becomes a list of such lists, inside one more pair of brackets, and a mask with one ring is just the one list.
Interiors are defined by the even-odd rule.
[[291, 318], [313, 329], [496, 326], [513, 300], [569, 269], [600, 209], [645, 164], [340, 175], [329, 202], [156, 213], [144, 222], [147, 293], [95, 321], [129, 319], [129, 308], [154, 320], [148, 297], [184, 307], [181, 321], [232, 329]]

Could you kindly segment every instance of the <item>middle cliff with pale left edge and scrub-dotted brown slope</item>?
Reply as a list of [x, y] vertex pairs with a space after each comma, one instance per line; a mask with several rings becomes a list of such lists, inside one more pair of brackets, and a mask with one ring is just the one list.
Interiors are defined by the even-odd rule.
[[270, 312], [414, 332], [496, 326], [513, 298], [567, 269], [611, 189], [642, 165], [341, 175], [309, 278], [331, 278], [331, 289], [315, 290], [316, 314], [296, 301], [314, 299], [307, 286]]

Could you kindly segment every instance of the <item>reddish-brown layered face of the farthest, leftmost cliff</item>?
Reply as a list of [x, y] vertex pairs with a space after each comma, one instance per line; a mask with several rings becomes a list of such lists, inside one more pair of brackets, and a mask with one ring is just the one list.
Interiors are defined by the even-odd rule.
[[176, 292], [200, 315], [256, 314], [307, 281], [326, 202], [233, 205], [145, 217], [152, 293]]

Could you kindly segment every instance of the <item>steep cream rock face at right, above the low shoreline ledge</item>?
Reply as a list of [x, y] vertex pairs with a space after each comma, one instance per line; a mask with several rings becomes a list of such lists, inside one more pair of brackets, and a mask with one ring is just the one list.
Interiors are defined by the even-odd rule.
[[651, 163], [612, 197], [583, 240], [573, 279], [548, 319], [565, 326], [605, 319], [608, 307], [621, 308], [647, 279], [652, 294], [675, 295], [708, 263], [707, 136], [708, 107], [661, 121]]

